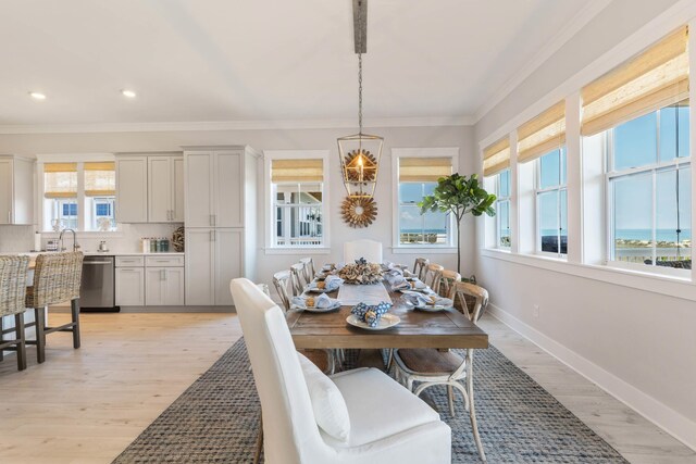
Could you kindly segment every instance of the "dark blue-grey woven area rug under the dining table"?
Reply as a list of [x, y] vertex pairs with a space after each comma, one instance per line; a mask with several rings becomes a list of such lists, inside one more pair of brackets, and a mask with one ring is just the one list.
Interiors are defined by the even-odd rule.
[[[496, 348], [476, 350], [474, 373], [478, 430], [489, 463], [626, 462]], [[461, 401], [452, 417], [445, 388], [431, 388], [428, 396], [452, 429], [452, 462], [478, 462]], [[239, 340], [114, 463], [251, 463], [259, 409]]]

